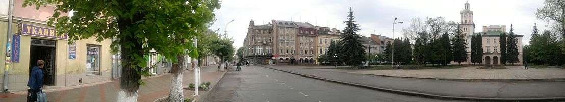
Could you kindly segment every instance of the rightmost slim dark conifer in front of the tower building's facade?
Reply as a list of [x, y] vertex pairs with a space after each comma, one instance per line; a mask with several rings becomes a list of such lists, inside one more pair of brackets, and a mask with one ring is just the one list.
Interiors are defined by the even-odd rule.
[[514, 36], [514, 26], [510, 25], [510, 32], [508, 33], [508, 42], [506, 43], [507, 45], [506, 62], [511, 63], [512, 65], [520, 61], [518, 60], [519, 52], [518, 52], [518, 46], [516, 46], [517, 41], [518, 39], [516, 39], [516, 37]]

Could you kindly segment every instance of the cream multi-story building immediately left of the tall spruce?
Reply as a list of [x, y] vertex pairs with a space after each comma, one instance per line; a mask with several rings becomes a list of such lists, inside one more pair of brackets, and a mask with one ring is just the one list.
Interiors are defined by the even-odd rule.
[[318, 50], [315, 52], [315, 63], [317, 63], [317, 59], [320, 55], [324, 55], [328, 52], [328, 48], [332, 42], [337, 44], [341, 40], [340, 30], [337, 30], [336, 28], [316, 26], [316, 29], [318, 29], [318, 36], [316, 36], [318, 38], [316, 38], [315, 42], [318, 42], [316, 43]]

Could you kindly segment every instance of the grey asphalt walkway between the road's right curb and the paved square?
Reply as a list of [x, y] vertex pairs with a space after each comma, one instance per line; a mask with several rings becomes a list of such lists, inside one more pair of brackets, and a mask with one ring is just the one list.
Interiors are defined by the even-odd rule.
[[293, 68], [300, 66], [264, 67], [312, 78], [410, 95], [482, 100], [565, 99], [565, 87], [563, 87], [565, 82], [462, 82]]

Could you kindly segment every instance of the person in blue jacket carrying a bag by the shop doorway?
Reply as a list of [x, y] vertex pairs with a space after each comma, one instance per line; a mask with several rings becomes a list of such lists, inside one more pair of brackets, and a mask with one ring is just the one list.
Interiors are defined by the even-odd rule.
[[33, 66], [32, 70], [29, 72], [28, 79], [28, 102], [37, 101], [37, 92], [41, 92], [43, 87], [43, 69], [45, 61], [37, 60], [37, 66]]

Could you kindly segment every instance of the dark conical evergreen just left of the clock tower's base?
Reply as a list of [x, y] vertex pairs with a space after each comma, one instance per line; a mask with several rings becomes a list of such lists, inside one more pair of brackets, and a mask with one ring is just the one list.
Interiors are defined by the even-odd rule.
[[459, 63], [459, 65], [461, 65], [461, 62], [467, 61], [466, 50], [468, 47], [467, 43], [465, 43], [465, 38], [465, 35], [458, 27], [457, 30], [455, 30], [453, 39], [451, 39], [451, 43], [453, 44], [453, 61]]

